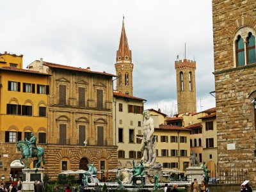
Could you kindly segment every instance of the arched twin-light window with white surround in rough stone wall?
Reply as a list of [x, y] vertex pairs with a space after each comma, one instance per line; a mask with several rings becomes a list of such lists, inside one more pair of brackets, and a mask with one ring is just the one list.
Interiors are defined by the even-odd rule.
[[256, 63], [255, 31], [241, 28], [234, 39], [234, 67]]

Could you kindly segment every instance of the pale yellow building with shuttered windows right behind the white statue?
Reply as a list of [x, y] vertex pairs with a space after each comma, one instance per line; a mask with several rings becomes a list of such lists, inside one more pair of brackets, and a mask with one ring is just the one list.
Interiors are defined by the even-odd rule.
[[161, 111], [148, 109], [154, 120], [154, 135], [157, 138], [157, 163], [163, 164], [163, 169], [175, 168], [185, 172], [189, 166], [189, 129], [184, 127], [166, 125], [166, 115]]

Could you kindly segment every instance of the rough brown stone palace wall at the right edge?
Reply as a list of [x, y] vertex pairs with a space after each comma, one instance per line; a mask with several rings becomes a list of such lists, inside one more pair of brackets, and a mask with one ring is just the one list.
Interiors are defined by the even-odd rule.
[[234, 47], [239, 30], [255, 34], [255, 10], [255, 1], [212, 1], [218, 170], [246, 169], [254, 186], [256, 63], [236, 67]]

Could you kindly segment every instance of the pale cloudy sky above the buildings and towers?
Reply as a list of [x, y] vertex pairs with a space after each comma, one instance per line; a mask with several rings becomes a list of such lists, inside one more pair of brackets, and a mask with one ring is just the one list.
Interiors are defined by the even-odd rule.
[[[196, 61], [197, 111], [215, 107], [212, 4], [205, 0], [2, 1], [0, 52], [115, 73], [122, 20], [132, 51], [133, 95], [177, 113], [174, 63]], [[115, 88], [115, 84], [114, 84]]]

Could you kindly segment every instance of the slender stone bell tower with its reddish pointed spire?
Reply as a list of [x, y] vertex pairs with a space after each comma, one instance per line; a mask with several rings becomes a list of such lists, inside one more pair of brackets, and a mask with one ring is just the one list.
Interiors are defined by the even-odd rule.
[[122, 24], [122, 33], [118, 51], [116, 51], [116, 90], [126, 95], [132, 95], [132, 52], [129, 49], [127, 36], [124, 28], [124, 20]]

